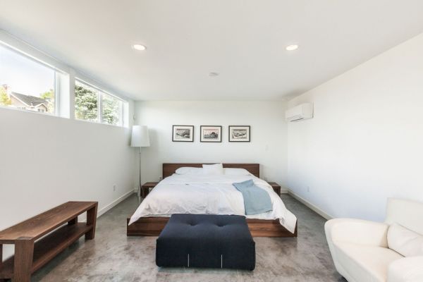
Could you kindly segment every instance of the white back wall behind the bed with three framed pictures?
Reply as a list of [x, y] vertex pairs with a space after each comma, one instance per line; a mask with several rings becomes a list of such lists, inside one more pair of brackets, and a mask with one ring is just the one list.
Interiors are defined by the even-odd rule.
[[[159, 180], [164, 162], [252, 162], [261, 176], [286, 183], [285, 102], [136, 102], [137, 123], [149, 126], [142, 182]], [[172, 125], [195, 125], [194, 142], [172, 142]], [[221, 143], [200, 142], [200, 125], [223, 125]], [[251, 142], [228, 142], [228, 125], [251, 125]]]

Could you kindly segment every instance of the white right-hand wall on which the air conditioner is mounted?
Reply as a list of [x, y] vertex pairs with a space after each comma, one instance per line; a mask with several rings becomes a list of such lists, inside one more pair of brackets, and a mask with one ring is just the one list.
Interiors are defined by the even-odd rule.
[[[289, 102], [288, 187], [331, 216], [383, 220], [387, 197], [423, 202], [423, 34]], [[309, 192], [307, 192], [307, 186]]]

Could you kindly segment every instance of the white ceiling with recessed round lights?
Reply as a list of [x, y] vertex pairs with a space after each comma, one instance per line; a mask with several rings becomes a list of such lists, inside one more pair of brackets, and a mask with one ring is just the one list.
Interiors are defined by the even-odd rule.
[[137, 100], [286, 99], [423, 32], [422, 15], [422, 0], [0, 0], [1, 29]]

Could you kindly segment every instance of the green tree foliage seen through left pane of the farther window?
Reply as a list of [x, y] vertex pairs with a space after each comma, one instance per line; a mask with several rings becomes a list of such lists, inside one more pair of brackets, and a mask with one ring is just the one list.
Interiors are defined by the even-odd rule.
[[97, 92], [75, 85], [75, 117], [85, 121], [97, 121]]

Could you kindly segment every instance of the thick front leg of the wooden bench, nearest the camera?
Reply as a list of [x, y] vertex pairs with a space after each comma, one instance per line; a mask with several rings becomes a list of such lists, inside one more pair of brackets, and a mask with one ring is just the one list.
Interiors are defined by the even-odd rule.
[[13, 282], [30, 282], [34, 240], [21, 237], [15, 242], [15, 266]]

